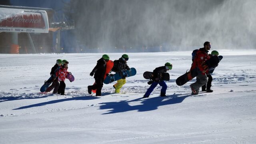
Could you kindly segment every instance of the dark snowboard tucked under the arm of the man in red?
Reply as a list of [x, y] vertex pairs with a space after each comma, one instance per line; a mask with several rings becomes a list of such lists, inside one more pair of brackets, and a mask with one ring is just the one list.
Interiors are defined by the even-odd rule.
[[[216, 67], [218, 63], [220, 62], [218, 56], [213, 56], [209, 60], [207, 60], [204, 64], [202, 64], [204, 70], [209, 70], [210, 68]], [[185, 74], [178, 77], [176, 79], [176, 84], [178, 86], [182, 86], [186, 84], [188, 81], [192, 80], [194, 77], [198, 75], [197, 68], [194, 68], [192, 71], [187, 70]]]

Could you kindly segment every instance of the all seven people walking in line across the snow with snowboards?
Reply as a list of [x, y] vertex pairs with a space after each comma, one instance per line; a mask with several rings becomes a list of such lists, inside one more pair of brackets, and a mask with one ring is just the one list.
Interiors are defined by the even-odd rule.
[[[213, 90], [210, 89], [212, 86], [212, 76], [208, 73], [208, 70], [205, 70], [202, 66], [202, 64], [204, 64], [204, 62], [209, 60], [212, 56], [218, 56], [218, 52], [216, 50], [212, 51], [211, 54], [208, 54], [210, 48], [211, 43], [204, 42], [203, 48], [200, 48], [199, 50], [194, 50], [192, 53], [192, 66], [190, 68], [190, 71], [196, 69], [197, 72], [196, 82], [190, 84], [192, 95], [198, 94], [200, 87], [202, 87], [202, 91], [213, 92]], [[92, 72], [90, 72], [90, 76], [94, 76], [95, 83], [88, 86], [89, 94], [92, 94], [92, 90], [96, 90], [96, 96], [101, 96], [104, 77], [106, 77], [106, 64], [109, 60], [110, 57], [107, 54], [104, 54], [102, 58], [97, 61], [97, 64], [93, 68]], [[114, 60], [114, 66], [112, 68], [112, 71], [122, 76], [122, 78], [120, 80], [117, 80], [117, 83], [113, 85], [113, 87], [115, 88], [115, 93], [119, 93], [120, 88], [122, 88], [122, 86], [126, 84], [126, 75], [124, 75], [122, 71], [130, 70], [129, 66], [127, 65], [128, 60], [129, 56], [127, 54], [123, 54], [121, 58], [119, 58], [118, 60]], [[46, 92], [50, 92], [52, 89], [54, 89], [54, 94], [57, 93], [64, 95], [66, 87], [65, 79], [67, 74], [69, 73], [67, 70], [67, 60], [56, 60], [56, 64], [52, 67], [52, 70], [50, 72], [50, 75], [52, 76], [52, 85], [47, 88]], [[148, 82], [148, 84], [150, 84], [151, 86], [148, 88], [143, 98], [148, 98], [158, 84], [162, 86], [160, 96], [166, 96], [167, 85], [164, 80], [161, 80], [159, 74], [165, 73], [168, 70], [172, 70], [172, 64], [170, 62], [166, 62], [164, 66], [160, 66], [154, 69], [152, 81]]]

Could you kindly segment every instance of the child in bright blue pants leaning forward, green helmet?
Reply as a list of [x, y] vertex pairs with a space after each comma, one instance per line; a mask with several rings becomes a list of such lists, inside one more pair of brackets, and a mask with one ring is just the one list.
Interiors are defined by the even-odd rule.
[[144, 94], [143, 98], [148, 98], [154, 88], [159, 84], [162, 86], [160, 96], [166, 96], [167, 85], [164, 80], [161, 80], [162, 73], [167, 72], [167, 70], [172, 70], [172, 64], [166, 62], [164, 66], [160, 66], [153, 71], [152, 81], [149, 81], [148, 84], [151, 86], [148, 88], [147, 92]]

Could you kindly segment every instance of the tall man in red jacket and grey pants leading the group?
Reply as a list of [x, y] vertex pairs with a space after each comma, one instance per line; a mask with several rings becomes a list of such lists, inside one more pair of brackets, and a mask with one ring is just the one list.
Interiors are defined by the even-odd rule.
[[204, 67], [202, 64], [204, 64], [205, 61], [210, 59], [210, 56], [208, 55], [208, 50], [211, 48], [210, 42], [204, 42], [204, 47], [200, 48], [196, 52], [196, 56], [193, 60], [192, 66], [190, 68], [190, 72], [194, 69], [196, 69], [197, 76], [196, 76], [196, 82], [193, 84], [190, 84], [190, 88], [192, 90], [192, 95], [196, 95], [199, 92], [199, 88], [207, 83], [207, 76], [206, 76], [206, 70], [204, 70]]

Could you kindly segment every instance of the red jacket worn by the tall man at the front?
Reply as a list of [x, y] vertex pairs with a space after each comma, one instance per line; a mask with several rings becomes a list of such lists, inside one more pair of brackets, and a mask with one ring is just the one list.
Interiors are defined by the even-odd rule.
[[206, 51], [204, 48], [200, 48], [196, 53], [196, 57], [194, 58], [194, 62], [192, 63], [190, 71], [198, 68], [202, 74], [205, 74], [202, 72], [204, 71], [202, 64], [204, 64], [204, 62], [209, 59], [210, 56], [208, 55], [208, 51]]

